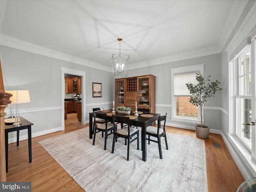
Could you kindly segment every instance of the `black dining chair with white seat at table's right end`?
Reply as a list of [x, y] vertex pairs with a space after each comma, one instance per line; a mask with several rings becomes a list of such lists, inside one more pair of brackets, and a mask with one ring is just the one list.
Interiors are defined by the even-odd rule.
[[[148, 140], [148, 144], [150, 144], [150, 141], [158, 143], [160, 159], [163, 158], [162, 148], [161, 148], [161, 137], [164, 137], [166, 150], [168, 150], [168, 144], [167, 144], [166, 132], [165, 132], [166, 116], [167, 116], [167, 113], [163, 116], [159, 116], [159, 118], [157, 120], [157, 127], [148, 126], [146, 128], [146, 134], [148, 135], [148, 138], [146, 138], [146, 139]], [[162, 121], [164, 121], [164, 123], [161, 125]], [[150, 139], [150, 136], [156, 137], [157, 141]]]

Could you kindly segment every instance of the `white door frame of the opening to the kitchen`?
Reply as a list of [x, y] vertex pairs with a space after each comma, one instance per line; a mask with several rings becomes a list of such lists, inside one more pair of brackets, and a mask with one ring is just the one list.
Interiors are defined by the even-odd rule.
[[65, 113], [65, 105], [64, 105], [64, 100], [65, 100], [65, 74], [70, 74], [70, 75], [76, 75], [76, 76], [81, 76], [81, 87], [82, 87], [82, 124], [86, 124], [86, 89], [85, 89], [85, 71], [81, 70], [76, 70], [76, 69], [71, 69], [71, 68], [66, 68], [66, 67], [61, 67], [61, 130], [65, 130], [65, 118], [64, 118], [64, 113]]

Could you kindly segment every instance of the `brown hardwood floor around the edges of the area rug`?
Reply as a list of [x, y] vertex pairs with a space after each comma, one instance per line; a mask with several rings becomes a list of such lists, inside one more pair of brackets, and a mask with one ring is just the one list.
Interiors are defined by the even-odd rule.
[[[10, 144], [8, 173], [6, 173], [7, 181], [32, 182], [32, 192], [84, 191], [38, 144], [38, 141], [88, 126], [89, 124], [82, 125], [78, 122], [76, 114], [68, 114], [68, 118], [65, 120], [65, 131], [32, 138], [31, 163], [28, 162], [27, 140], [21, 141], [18, 147], [16, 143]], [[193, 130], [166, 126], [166, 131], [196, 138], [195, 131]], [[222, 137], [218, 134], [210, 134], [209, 138], [204, 141], [208, 192], [236, 192], [240, 184], [244, 182], [244, 178], [224, 144]], [[214, 147], [213, 142], [219, 143], [221, 148]], [[171, 150], [171, 147], [169, 147], [169, 150]]]

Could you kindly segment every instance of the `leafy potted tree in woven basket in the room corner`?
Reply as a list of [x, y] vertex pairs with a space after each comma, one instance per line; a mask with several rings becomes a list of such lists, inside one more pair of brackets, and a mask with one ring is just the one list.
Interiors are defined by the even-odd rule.
[[219, 87], [220, 82], [218, 80], [210, 82], [210, 75], [207, 77], [203, 77], [201, 73], [196, 73], [196, 80], [198, 84], [186, 83], [190, 94], [189, 102], [200, 106], [200, 114], [201, 114], [201, 124], [196, 124], [196, 136], [199, 138], [208, 138], [209, 137], [209, 130], [210, 126], [206, 126], [202, 122], [202, 106], [204, 102], [207, 101], [208, 98], [214, 97], [214, 94], [222, 88]]

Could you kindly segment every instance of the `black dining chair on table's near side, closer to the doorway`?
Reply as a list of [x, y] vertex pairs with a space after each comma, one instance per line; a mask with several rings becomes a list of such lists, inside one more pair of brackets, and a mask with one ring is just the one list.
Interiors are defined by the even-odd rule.
[[[95, 112], [93, 112], [93, 117], [94, 117], [94, 122], [96, 122], [96, 118], [99, 118], [99, 119], [104, 120], [104, 123], [103, 123], [103, 124], [99, 124], [99, 125], [97, 125], [97, 124], [95, 123], [94, 136], [93, 136], [92, 145], [95, 144], [96, 133], [102, 132], [102, 137], [103, 137], [103, 134], [105, 133], [104, 150], [106, 150], [106, 145], [107, 145], [108, 136], [109, 136], [110, 134], [113, 134], [113, 133], [114, 133], [114, 129], [115, 129], [116, 126], [115, 126], [113, 123], [108, 122], [108, 120], [107, 120], [107, 114], [106, 114], [106, 113], [95, 113]], [[113, 131], [112, 131], [112, 130], [113, 130]], [[108, 131], [111, 131], [111, 132], [108, 133]]]

